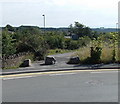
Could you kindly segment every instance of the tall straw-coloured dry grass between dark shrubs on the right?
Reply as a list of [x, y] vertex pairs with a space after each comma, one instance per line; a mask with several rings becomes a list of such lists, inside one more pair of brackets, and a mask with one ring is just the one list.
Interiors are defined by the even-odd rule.
[[[113, 47], [104, 47], [102, 48], [100, 63], [112, 63], [113, 59]], [[115, 62], [120, 62], [120, 48], [115, 50]], [[73, 56], [79, 56], [81, 63], [84, 63], [88, 57], [90, 57], [90, 47], [80, 48]]]

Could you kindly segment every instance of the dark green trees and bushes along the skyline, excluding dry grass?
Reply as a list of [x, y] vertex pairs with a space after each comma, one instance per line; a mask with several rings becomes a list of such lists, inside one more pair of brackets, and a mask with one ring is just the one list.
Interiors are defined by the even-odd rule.
[[[78, 40], [65, 38], [65, 36], [77, 35]], [[20, 52], [31, 52], [35, 59], [41, 60], [49, 49], [74, 50], [90, 44], [93, 40], [109, 42], [113, 40], [109, 33], [97, 33], [89, 27], [75, 22], [69, 26], [68, 31], [42, 31], [36, 26], [12, 27], [7, 25], [2, 28], [2, 56], [9, 56]]]

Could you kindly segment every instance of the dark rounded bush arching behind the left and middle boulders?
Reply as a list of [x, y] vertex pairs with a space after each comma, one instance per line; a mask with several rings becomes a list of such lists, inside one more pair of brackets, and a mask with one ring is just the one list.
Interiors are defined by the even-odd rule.
[[[25, 39], [25, 41], [24, 41]], [[48, 45], [43, 36], [30, 35], [19, 41], [17, 45], [17, 53], [19, 52], [32, 52], [38, 60], [44, 59], [47, 53]]]

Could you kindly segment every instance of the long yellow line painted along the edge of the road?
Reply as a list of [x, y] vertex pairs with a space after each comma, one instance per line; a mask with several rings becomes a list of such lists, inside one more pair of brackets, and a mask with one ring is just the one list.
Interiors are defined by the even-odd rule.
[[69, 70], [69, 71], [53, 71], [53, 72], [38, 72], [38, 73], [26, 73], [26, 74], [15, 74], [15, 75], [2, 75], [0, 78], [7, 77], [20, 77], [20, 76], [30, 76], [30, 75], [47, 75], [47, 74], [57, 74], [57, 73], [71, 73], [71, 72], [99, 72], [99, 71], [118, 71], [119, 69], [98, 69], [98, 70]]

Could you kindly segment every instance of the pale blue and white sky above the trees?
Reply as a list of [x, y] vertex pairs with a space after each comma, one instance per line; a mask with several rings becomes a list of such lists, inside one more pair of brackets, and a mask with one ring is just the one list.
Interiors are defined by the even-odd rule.
[[0, 0], [0, 25], [68, 27], [79, 22], [91, 28], [118, 23], [119, 0]]

